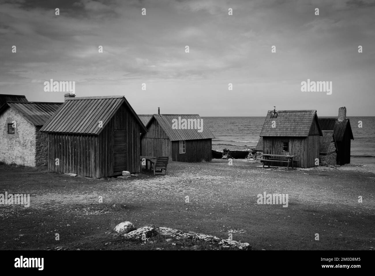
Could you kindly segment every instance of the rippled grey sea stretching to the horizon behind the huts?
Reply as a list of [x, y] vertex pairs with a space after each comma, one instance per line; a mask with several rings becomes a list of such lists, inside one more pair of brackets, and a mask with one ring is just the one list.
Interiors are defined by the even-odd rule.
[[[329, 117], [324, 117], [329, 118]], [[333, 118], [333, 117], [331, 117]], [[351, 164], [375, 168], [375, 117], [347, 117], [353, 131]], [[255, 148], [266, 117], [202, 117], [215, 136], [212, 149], [222, 151]], [[359, 127], [362, 121], [362, 128]]]

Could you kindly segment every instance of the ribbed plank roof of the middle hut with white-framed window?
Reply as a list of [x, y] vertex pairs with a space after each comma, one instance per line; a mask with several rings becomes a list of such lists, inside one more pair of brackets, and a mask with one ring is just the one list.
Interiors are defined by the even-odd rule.
[[211, 131], [206, 127], [203, 122], [202, 132], [198, 132], [197, 129], [172, 129], [172, 120], [181, 117], [182, 119], [196, 119], [201, 120], [201, 116], [198, 114], [154, 114], [150, 121], [148, 121], [146, 128], [148, 129], [149, 125], [156, 120], [160, 127], [164, 130], [165, 134], [168, 136], [171, 141], [180, 141], [180, 140], [200, 140], [200, 139], [212, 139], [215, 138]]

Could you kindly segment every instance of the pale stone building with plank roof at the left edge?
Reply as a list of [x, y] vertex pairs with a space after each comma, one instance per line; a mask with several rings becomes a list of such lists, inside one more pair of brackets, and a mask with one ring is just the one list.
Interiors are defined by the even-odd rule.
[[0, 107], [0, 161], [24, 166], [48, 164], [48, 140], [40, 128], [62, 103], [6, 101]]

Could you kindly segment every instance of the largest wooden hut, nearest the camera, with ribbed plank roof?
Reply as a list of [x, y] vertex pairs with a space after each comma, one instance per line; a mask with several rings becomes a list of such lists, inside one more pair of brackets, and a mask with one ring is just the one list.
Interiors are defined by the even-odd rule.
[[147, 130], [124, 96], [66, 98], [41, 131], [50, 170], [97, 178], [140, 172], [139, 133]]

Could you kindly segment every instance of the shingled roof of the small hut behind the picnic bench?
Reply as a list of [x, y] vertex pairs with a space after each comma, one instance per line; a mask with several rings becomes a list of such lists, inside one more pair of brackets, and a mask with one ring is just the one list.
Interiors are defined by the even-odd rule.
[[[276, 122], [274, 128], [272, 121]], [[314, 121], [320, 136], [322, 136], [317, 110], [276, 110], [275, 113], [273, 110], [269, 110], [260, 136], [307, 137]]]

